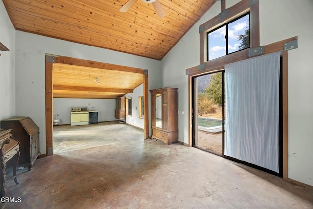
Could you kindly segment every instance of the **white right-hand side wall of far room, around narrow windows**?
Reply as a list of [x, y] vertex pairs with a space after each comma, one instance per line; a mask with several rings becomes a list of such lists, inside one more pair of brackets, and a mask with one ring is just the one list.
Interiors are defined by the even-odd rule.
[[126, 123], [143, 129], [143, 118], [139, 118], [139, 96], [143, 96], [143, 84], [135, 88], [133, 93], [125, 95], [132, 98], [132, 116], [126, 116]]

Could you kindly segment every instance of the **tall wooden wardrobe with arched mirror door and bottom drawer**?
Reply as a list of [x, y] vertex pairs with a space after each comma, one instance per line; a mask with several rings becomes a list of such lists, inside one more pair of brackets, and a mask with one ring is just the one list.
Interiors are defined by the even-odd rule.
[[166, 144], [178, 142], [177, 88], [150, 92], [152, 137]]

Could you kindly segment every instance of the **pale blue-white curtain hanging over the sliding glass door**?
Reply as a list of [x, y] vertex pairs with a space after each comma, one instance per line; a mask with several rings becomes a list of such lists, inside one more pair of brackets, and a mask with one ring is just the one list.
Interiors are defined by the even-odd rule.
[[225, 65], [225, 152], [279, 173], [280, 52]]

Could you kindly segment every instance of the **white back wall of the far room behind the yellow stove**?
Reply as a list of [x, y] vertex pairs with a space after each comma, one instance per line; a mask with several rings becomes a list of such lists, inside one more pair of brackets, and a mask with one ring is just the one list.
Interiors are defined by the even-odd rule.
[[[98, 122], [114, 121], [115, 99], [53, 99], [53, 116], [59, 114], [60, 124], [70, 124], [70, 108], [87, 107], [98, 111]], [[94, 107], [94, 108], [93, 108]]]

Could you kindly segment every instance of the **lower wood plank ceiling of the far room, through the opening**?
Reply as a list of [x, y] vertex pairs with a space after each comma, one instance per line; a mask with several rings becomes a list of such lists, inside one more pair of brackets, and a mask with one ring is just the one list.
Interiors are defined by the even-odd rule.
[[143, 73], [53, 64], [54, 98], [113, 99], [133, 93], [143, 83]]

